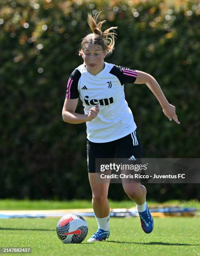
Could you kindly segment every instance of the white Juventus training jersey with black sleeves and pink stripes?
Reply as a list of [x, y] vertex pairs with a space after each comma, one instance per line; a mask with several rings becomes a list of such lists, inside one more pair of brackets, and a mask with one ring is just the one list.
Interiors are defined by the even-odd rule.
[[133, 114], [125, 100], [124, 84], [134, 83], [137, 71], [105, 62], [97, 75], [90, 74], [85, 63], [77, 67], [67, 83], [67, 99], [80, 97], [84, 112], [99, 105], [96, 118], [87, 125], [87, 139], [96, 143], [114, 141], [136, 129]]

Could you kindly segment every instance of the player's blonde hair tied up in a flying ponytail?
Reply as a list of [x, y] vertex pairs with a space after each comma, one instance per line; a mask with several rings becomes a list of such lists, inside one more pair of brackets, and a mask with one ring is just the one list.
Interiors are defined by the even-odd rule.
[[115, 46], [115, 35], [117, 35], [117, 33], [114, 29], [117, 27], [110, 27], [102, 32], [101, 28], [103, 23], [106, 22], [106, 20], [100, 21], [97, 24], [97, 18], [100, 15], [100, 13], [101, 12], [96, 13], [94, 17], [92, 17], [92, 15], [88, 13], [87, 22], [92, 30], [92, 33], [88, 34], [82, 39], [81, 49], [83, 49], [84, 46], [87, 44], [97, 44], [99, 46], [102, 46], [102, 49], [106, 50], [107, 53], [110, 54], [112, 53]]

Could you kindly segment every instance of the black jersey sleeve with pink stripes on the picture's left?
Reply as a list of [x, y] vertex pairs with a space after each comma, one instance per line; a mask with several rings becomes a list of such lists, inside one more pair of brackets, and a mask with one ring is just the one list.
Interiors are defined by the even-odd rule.
[[81, 77], [81, 73], [78, 69], [75, 69], [67, 82], [67, 99], [77, 99], [79, 97], [78, 93], [78, 81]]

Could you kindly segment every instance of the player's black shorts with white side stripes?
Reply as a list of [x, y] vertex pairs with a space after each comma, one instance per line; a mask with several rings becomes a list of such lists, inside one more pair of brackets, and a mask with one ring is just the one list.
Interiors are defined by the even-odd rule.
[[95, 143], [87, 140], [87, 170], [95, 172], [96, 158], [143, 158], [143, 148], [137, 129], [115, 141]]

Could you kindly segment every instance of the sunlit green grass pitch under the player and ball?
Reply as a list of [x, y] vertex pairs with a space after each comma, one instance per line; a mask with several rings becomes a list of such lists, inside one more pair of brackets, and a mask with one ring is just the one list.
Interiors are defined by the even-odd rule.
[[80, 244], [63, 244], [57, 238], [58, 220], [0, 219], [0, 246], [32, 247], [32, 255], [42, 256], [200, 255], [199, 218], [154, 218], [150, 234], [143, 232], [139, 218], [110, 218], [110, 237], [95, 243], [87, 243], [87, 239], [97, 230], [96, 220], [85, 218], [89, 230]]

